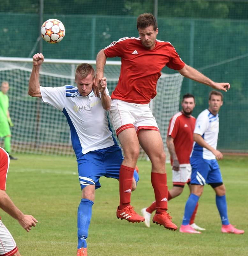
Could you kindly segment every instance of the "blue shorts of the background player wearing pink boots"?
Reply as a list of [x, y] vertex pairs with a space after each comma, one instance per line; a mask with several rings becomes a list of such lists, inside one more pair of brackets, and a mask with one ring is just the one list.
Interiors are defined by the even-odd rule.
[[221, 183], [222, 175], [216, 159], [207, 160], [201, 157], [191, 157], [191, 184], [205, 185]]

